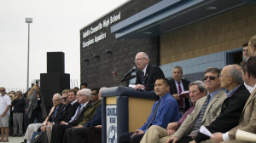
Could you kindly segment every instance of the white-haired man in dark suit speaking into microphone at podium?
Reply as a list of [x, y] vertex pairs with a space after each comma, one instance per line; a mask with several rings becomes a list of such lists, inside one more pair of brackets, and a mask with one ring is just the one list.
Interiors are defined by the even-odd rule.
[[138, 68], [135, 89], [154, 90], [155, 80], [165, 77], [160, 67], [149, 63], [148, 54], [144, 52], [137, 53], [134, 61]]

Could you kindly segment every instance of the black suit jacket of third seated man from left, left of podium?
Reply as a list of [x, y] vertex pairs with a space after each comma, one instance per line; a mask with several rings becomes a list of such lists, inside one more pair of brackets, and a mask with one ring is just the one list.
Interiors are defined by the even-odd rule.
[[76, 113], [77, 108], [79, 107], [79, 102], [76, 101], [73, 105], [69, 103], [69, 106], [67, 107], [66, 111], [61, 114], [60, 117], [58, 117], [57, 123], [60, 123], [61, 121], [68, 122], [70, 119], [74, 116]]

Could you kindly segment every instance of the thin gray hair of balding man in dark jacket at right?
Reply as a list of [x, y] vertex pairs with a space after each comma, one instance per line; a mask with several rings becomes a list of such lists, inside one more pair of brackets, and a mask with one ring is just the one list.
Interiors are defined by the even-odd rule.
[[232, 65], [230, 67], [230, 76], [235, 80], [236, 83], [241, 84], [243, 83], [242, 77], [241, 77], [241, 66], [239, 65]]

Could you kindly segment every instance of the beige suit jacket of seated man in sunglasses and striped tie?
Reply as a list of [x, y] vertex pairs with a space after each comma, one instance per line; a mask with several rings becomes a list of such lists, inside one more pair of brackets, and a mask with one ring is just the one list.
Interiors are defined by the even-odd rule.
[[[207, 106], [207, 110], [201, 121], [201, 125], [207, 126], [212, 123], [216, 117], [218, 117], [220, 113], [220, 107], [226, 97], [227, 94], [223, 90], [219, 90], [218, 93], [214, 95]], [[201, 112], [201, 107], [203, 106], [205, 100], [207, 100], [207, 96], [204, 96], [200, 100], [196, 101], [195, 110], [187, 116], [183, 124], [172, 136], [177, 136], [178, 139], [181, 139], [182, 137], [189, 135], [194, 130], [197, 117]]]

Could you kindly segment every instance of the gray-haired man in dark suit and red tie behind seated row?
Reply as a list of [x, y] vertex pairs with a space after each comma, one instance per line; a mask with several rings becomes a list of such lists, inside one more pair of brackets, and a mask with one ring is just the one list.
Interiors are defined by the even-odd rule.
[[182, 79], [183, 68], [181, 66], [174, 66], [172, 68], [172, 79], [170, 83], [170, 92], [177, 100], [180, 112], [186, 112], [189, 109], [189, 94], [187, 97], [179, 96], [183, 91], [189, 91], [189, 81]]

